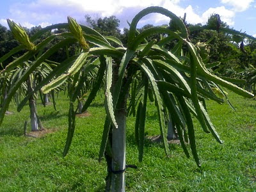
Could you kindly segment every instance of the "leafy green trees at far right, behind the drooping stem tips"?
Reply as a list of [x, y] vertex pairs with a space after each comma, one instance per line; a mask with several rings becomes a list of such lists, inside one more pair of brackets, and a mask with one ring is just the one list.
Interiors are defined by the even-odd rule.
[[229, 29], [218, 14], [211, 15], [205, 26], [191, 24], [188, 26], [191, 31], [191, 42], [208, 44], [209, 61], [212, 64], [216, 63], [212, 65], [214, 73], [218, 76], [234, 77], [236, 78], [234, 83], [252, 92], [253, 66], [256, 63], [255, 38], [246, 35], [245, 32]]

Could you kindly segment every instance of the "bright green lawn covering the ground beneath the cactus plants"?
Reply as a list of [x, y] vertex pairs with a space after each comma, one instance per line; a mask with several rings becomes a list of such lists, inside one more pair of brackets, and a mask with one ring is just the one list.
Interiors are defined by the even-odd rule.
[[[230, 93], [227, 104], [207, 102], [212, 122], [223, 145], [205, 134], [198, 122], [196, 145], [202, 169], [187, 159], [180, 145], [170, 145], [166, 157], [161, 144], [146, 141], [143, 162], [133, 136], [134, 118], [127, 122], [127, 164], [138, 169], [126, 172], [127, 191], [256, 191], [256, 101]], [[67, 134], [68, 99], [60, 96], [58, 111], [38, 104], [38, 114], [46, 129], [58, 131], [43, 138], [22, 136], [28, 106], [20, 113], [6, 115], [0, 127], [0, 191], [104, 191], [106, 162], [98, 163], [103, 99], [89, 108], [91, 116], [77, 118], [74, 140], [67, 157], [62, 157]], [[15, 106], [10, 106], [15, 111]], [[28, 127], [29, 129], [29, 127]], [[159, 134], [156, 109], [148, 105], [148, 135]]]

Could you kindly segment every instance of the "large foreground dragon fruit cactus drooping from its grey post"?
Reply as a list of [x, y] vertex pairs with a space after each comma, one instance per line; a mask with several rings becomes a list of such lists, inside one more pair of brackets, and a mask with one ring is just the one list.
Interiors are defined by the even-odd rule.
[[[169, 26], [161, 26], [152, 27], [138, 33], [136, 31], [138, 22], [149, 13], [161, 13], [170, 17], [170, 20], [175, 23], [175, 30], [169, 28]], [[127, 48], [117, 38], [111, 36], [104, 37], [91, 28], [80, 26], [71, 17], [68, 17], [68, 24], [56, 24], [38, 31], [31, 37], [31, 42], [35, 41], [38, 36], [46, 31], [51, 31], [54, 28], [67, 28], [70, 29], [71, 33], [49, 36], [36, 45], [35, 51], [26, 52], [23, 56], [7, 65], [1, 72], [1, 74], [4, 74], [8, 70], [21, 65], [22, 61], [29, 60], [29, 58], [38, 54], [38, 51], [44, 49], [45, 45], [56, 36], [64, 37], [63, 40], [53, 45], [44, 54], [36, 57], [37, 59], [31, 63], [26, 72], [13, 84], [0, 111], [0, 124], [3, 122], [4, 112], [10, 104], [10, 98], [13, 97], [15, 91], [29, 74], [40, 63], [58, 51], [58, 49], [78, 41], [84, 51], [67, 58], [58, 67], [54, 68], [36, 86], [34, 91], [29, 94], [31, 95], [41, 88], [44, 93], [50, 92], [52, 89], [65, 83], [68, 78], [72, 78], [68, 113], [68, 135], [63, 152], [63, 156], [66, 156], [76, 127], [74, 102], [84, 86], [84, 81], [86, 81], [79, 74], [82, 68], [84, 68], [84, 74], [97, 68], [95, 83], [93, 83], [82, 111], [88, 109], [102, 84], [104, 84], [106, 87], [106, 120], [102, 133], [99, 161], [104, 156], [108, 164], [106, 191], [125, 190], [125, 169], [129, 167], [125, 163], [127, 110], [130, 112], [129, 114], [136, 116], [134, 136], [138, 144], [139, 161], [143, 159], [145, 120], [149, 98], [156, 102], [159, 127], [166, 155], [170, 154], [166, 138], [166, 122], [172, 120], [186, 156], [190, 156], [190, 152], [185, 145], [185, 141], [189, 141], [191, 154], [197, 166], [200, 166], [191, 114], [198, 119], [205, 132], [211, 132], [214, 138], [219, 143], [222, 143], [218, 132], [216, 132], [207, 114], [205, 99], [211, 99], [220, 104], [224, 102], [223, 99], [217, 97], [212, 91], [214, 88], [221, 90], [223, 95], [225, 95], [225, 92], [222, 92], [223, 88], [227, 88], [243, 97], [253, 97], [252, 93], [246, 92], [235, 84], [212, 74], [211, 70], [207, 68], [211, 63], [204, 63], [207, 60], [202, 60], [202, 57], [204, 58], [203, 54], [207, 54], [207, 51], [201, 49], [200, 54], [198, 51], [200, 51], [202, 46], [198, 44], [198, 47], [196, 47], [196, 45], [191, 44], [184, 22], [164, 8], [148, 7], [134, 17], [129, 29]], [[227, 30], [226, 32], [228, 33]], [[164, 38], [158, 42], [157, 40], [152, 40], [151, 42], [145, 40], [147, 36], [156, 33], [164, 34]], [[175, 46], [171, 50], [167, 50], [164, 45], [173, 40], [176, 42]], [[115, 43], [116, 46], [114, 47], [110, 42]], [[183, 50], [183, 47], [186, 47], [187, 51]], [[6, 58], [12, 56], [20, 49], [22, 47], [13, 49], [0, 58], [0, 62], [6, 60]], [[131, 94], [129, 107], [127, 108], [129, 93]], [[28, 97], [29, 95], [25, 97], [24, 102], [26, 102]]]

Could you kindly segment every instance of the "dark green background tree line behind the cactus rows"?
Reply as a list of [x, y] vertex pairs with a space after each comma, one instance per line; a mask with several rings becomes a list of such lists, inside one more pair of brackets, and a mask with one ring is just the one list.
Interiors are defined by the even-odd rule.
[[[202, 26], [202, 24], [187, 24], [189, 28], [195, 26], [202, 26], [204, 28], [204, 30], [201, 31], [195, 30], [190, 32], [191, 42], [196, 44], [198, 42], [205, 43], [208, 41], [207, 49], [209, 51], [209, 62], [221, 61], [221, 64], [216, 67], [217, 72], [220, 74], [233, 76], [235, 72], [242, 72], [246, 68], [256, 67], [256, 43], [250, 40], [243, 40], [241, 36], [227, 35], [223, 32], [219, 33], [216, 31], [216, 26], [214, 26], [216, 25], [216, 15], [217, 14], [211, 15], [207, 24], [204, 26]], [[95, 29], [100, 34], [104, 36], [115, 36], [122, 41], [122, 44], [127, 44], [129, 29], [124, 28], [124, 31], [121, 32], [119, 28], [120, 20], [118, 20], [114, 15], [96, 19], [93, 19], [90, 15], [85, 15], [84, 19], [87, 26]], [[152, 24], [147, 24], [142, 28], [139, 28], [138, 33], [151, 28], [152, 26]], [[228, 27], [227, 23], [222, 21], [221, 26]], [[172, 27], [172, 24], [170, 24], [170, 27]], [[40, 29], [42, 29], [41, 26], [36, 26], [30, 29], [26, 28], [26, 32], [29, 36], [32, 36]], [[63, 33], [65, 30], [67, 31], [67, 29], [55, 29], [52, 32], [42, 35], [40, 40], [50, 36], [51, 33]], [[61, 40], [61, 38], [62, 37], [54, 40], [52, 44], [56, 44], [56, 41]], [[147, 40], [150, 42], [150, 40], [154, 38], [159, 40], [161, 35], [152, 35], [148, 37]], [[19, 43], [13, 38], [10, 30], [0, 24], [0, 57], [12, 50], [14, 47], [17, 47], [17, 45], [19, 45]], [[166, 46], [168, 49], [172, 49], [175, 44], [167, 44]], [[72, 45], [70, 47], [66, 47], [66, 49], [60, 49], [51, 57], [51, 60], [56, 62], [65, 60], [68, 55], [72, 55], [76, 52], [76, 47], [78, 46]], [[47, 47], [45, 48], [45, 51], [46, 50]], [[24, 52], [19, 52], [17, 56], [21, 54], [24, 54]], [[11, 60], [12, 58], [4, 61], [1, 68], [10, 63]]]

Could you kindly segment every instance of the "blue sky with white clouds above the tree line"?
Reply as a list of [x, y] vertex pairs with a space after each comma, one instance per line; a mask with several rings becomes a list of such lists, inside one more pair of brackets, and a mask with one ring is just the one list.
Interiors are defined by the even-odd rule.
[[[84, 15], [93, 19], [115, 15], [123, 29], [128, 28], [127, 21], [131, 22], [148, 6], [162, 6], [180, 17], [186, 13], [190, 24], [205, 24], [212, 13], [218, 13], [231, 28], [256, 36], [256, 0], [1, 0], [0, 24], [8, 27], [6, 19], [12, 19], [26, 28], [44, 28], [67, 22], [67, 16], [86, 24]], [[150, 14], [141, 19], [138, 27], [168, 24], [169, 20]]]

